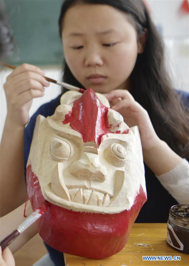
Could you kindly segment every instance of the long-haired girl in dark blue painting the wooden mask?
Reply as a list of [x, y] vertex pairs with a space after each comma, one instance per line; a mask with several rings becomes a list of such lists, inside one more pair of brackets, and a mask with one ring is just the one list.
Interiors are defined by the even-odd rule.
[[[189, 96], [170, 85], [162, 41], [143, 1], [66, 0], [59, 32], [65, 55], [63, 80], [105, 94], [129, 126], [139, 127], [148, 201], [137, 222], [165, 223], [172, 205], [188, 202]], [[24, 132], [26, 167], [37, 115], [52, 115], [59, 105], [60, 96], [42, 105], [25, 130], [32, 99], [43, 96], [48, 86], [43, 76], [38, 67], [24, 64], [4, 85], [8, 113], [1, 182], [11, 184], [9, 195], [1, 193], [2, 200], [6, 198], [4, 214], [25, 200]], [[52, 257], [55, 264], [63, 265], [57, 254], [56, 262]]]

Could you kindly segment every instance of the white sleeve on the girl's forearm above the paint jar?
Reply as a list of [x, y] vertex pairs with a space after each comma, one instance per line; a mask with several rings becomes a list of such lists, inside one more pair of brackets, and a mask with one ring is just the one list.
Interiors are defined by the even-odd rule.
[[189, 204], [189, 163], [186, 159], [169, 172], [156, 177], [179, 204]]

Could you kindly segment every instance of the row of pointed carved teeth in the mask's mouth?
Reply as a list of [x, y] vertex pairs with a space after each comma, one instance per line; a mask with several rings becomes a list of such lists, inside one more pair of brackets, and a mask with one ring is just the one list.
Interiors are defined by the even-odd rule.
[[93, 189], [69, 188], [68, 192], [71, 201], [75, 203], [99, 207], [108, 207], [110, 203], [108, 193], [102, 193]]

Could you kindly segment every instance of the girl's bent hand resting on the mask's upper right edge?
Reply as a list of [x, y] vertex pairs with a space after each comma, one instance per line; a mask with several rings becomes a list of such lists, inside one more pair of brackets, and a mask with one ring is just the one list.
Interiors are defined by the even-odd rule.
[[111, 108], [123, 116], [124, 122], [129, 127], [138, 126], [143, 153], [160, 144], [160, 139], [156, 135], [147, 111], [134, 100], [129, 91], [114, 90], [105, 96], [109, 100]]

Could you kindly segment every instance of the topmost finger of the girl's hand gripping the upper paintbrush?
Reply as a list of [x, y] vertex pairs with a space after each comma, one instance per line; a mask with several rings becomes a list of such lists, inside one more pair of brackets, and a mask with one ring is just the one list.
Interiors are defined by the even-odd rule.
[[20, 65], [19, 67], [17, 67], [8, 77], [7, 77], [7, 80], [21, 74], [21, 73], [24, 73], [24, 72], [28, 72], [28, 71], [31, 71], [31, 72], [35, 72], [35, 73], [38, 73], [39, 75], [42, 75], [44, 76], [45, 75], [45, 72], [39, 68], [39, 67], [36, 67], [36, 66], [33, 66], [33, 65], [29, 65], [29, 64], [22, 64]]

